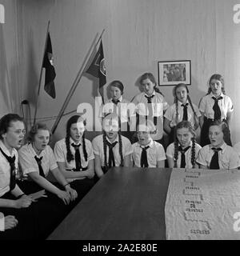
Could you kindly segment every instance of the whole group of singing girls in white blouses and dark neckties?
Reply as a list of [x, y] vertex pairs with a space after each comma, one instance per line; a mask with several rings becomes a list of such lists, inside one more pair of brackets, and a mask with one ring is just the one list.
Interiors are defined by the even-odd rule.
[[[66, 138], [56, 142], [54, 150], [48, 146], [51, 134], [45, 124], [36, 123], [25, 136], [25, 124], [17, 114], [1, 118], [0, 212], [5, 216], [5, 231], [0, 239], [46, 238], [112, 166], [164, 167], [166, 159], [170, 168], [240, 166], [230, 144], [233, 106], [220, 75], [210, 78], [200, 111], [184, 84], [174, 87], [174, 105], [169, 106], [152, 74], [143, 74], [140, 82], [143, 91], [132, 100], [137, 106], [135, 119], [127, 108], [121, 110], [121, 102], [130, 104], [122, 98], [122, 82], [110, 83], [112, 111], [103, 106], [102, 134], [92, 142], [85, 138], [86, 121], [79, 115], [68, 120]], [[195, 134], [199, 125], [201, 146]], [[166, 153], [163, 127], [170, 135]], [[55, 182], [50, 182], [49, 172]], [[32, 194], [41, 190], [46, 197], [35, 200]]]

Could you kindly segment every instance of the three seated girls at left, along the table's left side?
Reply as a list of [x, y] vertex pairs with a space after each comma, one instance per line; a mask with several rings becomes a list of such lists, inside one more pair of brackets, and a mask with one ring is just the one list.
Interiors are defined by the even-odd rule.
[[[0, 240], [47, 238], [94, 186], [94, 151], [84, 130], [85, 121], [71, 117], [53, 151], [45, 124], [36, 123], [25, 136], [18, 114], [0, 119]], [[45, 194], [35, 199], [39, 191]]]

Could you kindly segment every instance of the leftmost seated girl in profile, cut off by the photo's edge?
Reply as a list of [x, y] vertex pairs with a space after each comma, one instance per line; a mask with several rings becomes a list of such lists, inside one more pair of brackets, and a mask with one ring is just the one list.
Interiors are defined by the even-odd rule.
[[22, 146], [25, 133], [25, 124], [18, 114], [6, 114], [1, 118], [0, 212], [6, 216], [6, 226], [5, 230], [0, 232], [0, 240], [43, 238], [42, 234], [49, 230], [51, 225], [44, 220], [44, 214], [49, 214], [51, 208], [42, 210], [41, 202], [34, 202], [17, 183], [17, 150]]

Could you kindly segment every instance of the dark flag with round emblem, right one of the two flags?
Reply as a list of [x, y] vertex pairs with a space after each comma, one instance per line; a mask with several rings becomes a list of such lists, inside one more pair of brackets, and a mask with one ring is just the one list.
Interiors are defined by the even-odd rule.
[[106, 67], [105, 67], [105, 58], [103, 54], [102, 40], [100, 42], [98, 51], [94, 56], [94, 60], [86, 70], [86, 73], [93, 75], [95, 78], [99, 78], [99, 92], [100, 92], [100, 89], [102, 88], [102, 86], [106, 84]]

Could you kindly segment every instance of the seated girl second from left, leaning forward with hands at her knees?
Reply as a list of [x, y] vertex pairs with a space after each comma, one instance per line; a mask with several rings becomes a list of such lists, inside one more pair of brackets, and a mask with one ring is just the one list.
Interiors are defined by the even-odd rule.
[[[18, 185], [27, 193], [46, 190], [47, 197], [38, 199], [42, 206], [38, 218], [50, 223], [49, 229], [42, 230], [42, 236], [46, 238], [76, 205], [78, 193], [58, 170], [54, 152], [48, 146], [50, 130], [47, 126], [36, 123], [31, 127], [26, 140], [28, 143], [18, 151], [25, 180], [18, 182]], [[49, 173], [52, 174], [54, 182], [48, 179]]]

